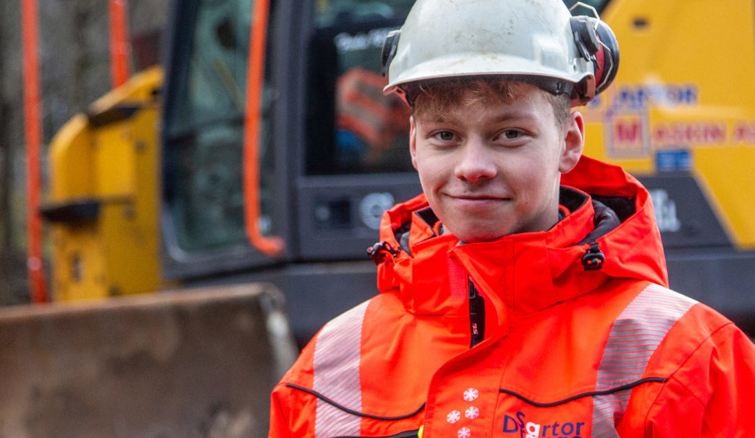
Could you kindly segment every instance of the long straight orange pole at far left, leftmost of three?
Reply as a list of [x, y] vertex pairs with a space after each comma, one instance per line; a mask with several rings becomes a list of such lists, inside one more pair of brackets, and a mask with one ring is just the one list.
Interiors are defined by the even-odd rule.
[[39, 149], [42, 143], [42, 102], [39, 94], [39, 60], [36, 0], [21, 0], [23, 39], [23, 110], [26, 136], [26, 267], [33, 303], [48, 301], [42, 266], [42, 218], [39, 217]]

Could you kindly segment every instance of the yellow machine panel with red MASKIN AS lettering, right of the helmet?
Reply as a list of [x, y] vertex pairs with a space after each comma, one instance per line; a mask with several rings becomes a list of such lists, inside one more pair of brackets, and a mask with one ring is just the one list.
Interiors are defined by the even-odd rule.
[[755, 248], [753, 16], [745, 1], [610, 2], [621, 66], [583, 111], [587, 155], [639, 176], [688, 171], [741, 249]]

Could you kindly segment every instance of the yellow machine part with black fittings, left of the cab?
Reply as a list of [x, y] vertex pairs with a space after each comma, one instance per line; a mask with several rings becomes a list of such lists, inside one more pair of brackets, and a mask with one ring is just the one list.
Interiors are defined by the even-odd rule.
[[162, 70], [134, 76], [75, 116], [51, 142], [56, 300], [156, 291]]

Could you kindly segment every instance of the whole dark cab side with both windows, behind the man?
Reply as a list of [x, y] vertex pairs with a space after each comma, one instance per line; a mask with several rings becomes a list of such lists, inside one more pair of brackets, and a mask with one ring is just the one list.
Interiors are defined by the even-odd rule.
[[248, 243], [242, 189], [255, 2], [177, 2], [163, 130], [165, 276], [367, 261], [383, 211], [421, 192], [408, 154], [408, 107], [382, 94], [381, 71], [384, 36], [413, 3], [270, 1], [258, 226], [286, 247], [271, 257]]

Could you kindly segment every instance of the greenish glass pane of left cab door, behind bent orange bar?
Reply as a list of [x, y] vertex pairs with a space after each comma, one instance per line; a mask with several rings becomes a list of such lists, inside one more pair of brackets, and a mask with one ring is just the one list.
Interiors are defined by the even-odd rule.
[[[185, 55], [174, 67], [174, 100], [166, 103], [164, 159], [168, 230], [181, 251], [247, 245], [242, 145], [253, 8], [248, 0], [197, 0], [181, 11], [190, 36], [178, 43]], [[271, 86], [266, 65], [260, 124], [260, 168], [267, 169], [260, 175], [260, 225], [266, 234], [272, 232]]]

